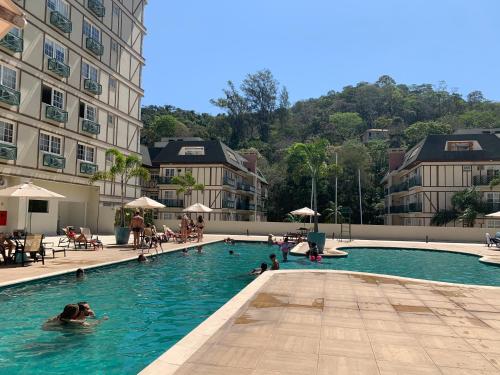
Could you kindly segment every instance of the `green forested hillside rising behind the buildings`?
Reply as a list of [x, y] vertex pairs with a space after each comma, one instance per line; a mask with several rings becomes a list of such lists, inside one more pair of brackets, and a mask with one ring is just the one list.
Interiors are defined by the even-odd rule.
[[[240, 87], [229, 81], [222, 96], [211, 102], [220, 109], [219, 115], [168, 105], [144, 107], [142, 141], [151, 145], [165, 136], [198, 136], [221, 139], [236, 150], [257, 149], [270, 183], [269, 220], [283, 220], [289, 211], [310, 204], [311, 180], [296, 178], [292, 172], [297, 161], [287, 157], [296, 142], [328, 140], [340, 166], [335, 172], [339, 206], [351, 208], [353, 222], [360, 220], [360, 170], [363, 222], [381, 224], [380, 180], [387, 171], [389, 146], [411, 147], [428, 134], [460, 128], [500, 128], [500, 103], [488, 101], [480, 91], [464, 98], [444, 82], [406, 85], [386, 75], [374, 83], [360, 82], [292, 105], [286, 87], [263, 70], [249, 74]], [[363, 145], [360, 135], [369, 128], [388, 129], [391, 140]], [[318, 184], [321, 213], [334, 209], [335, 173]], [[322, 219], [328, 220], [328, 215]]]

